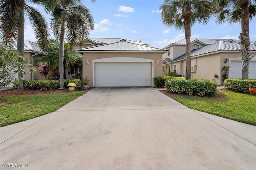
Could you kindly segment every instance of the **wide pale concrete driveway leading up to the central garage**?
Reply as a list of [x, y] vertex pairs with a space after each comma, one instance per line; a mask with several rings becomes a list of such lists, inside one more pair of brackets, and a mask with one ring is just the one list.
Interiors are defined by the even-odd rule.
[[154, 88], [94, 88], [0, 132], [1, 169], [256, 167], [255, 126], [188, 109]]

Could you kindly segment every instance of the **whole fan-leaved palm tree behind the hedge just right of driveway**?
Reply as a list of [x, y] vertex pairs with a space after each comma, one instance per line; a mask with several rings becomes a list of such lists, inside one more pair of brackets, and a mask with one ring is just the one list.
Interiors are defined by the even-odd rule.
[[191, 79], [191, 26], [195, 22], [207, 24], [212, 13], [209, 0], [164, 0], [161, 20], [166, 26], [184, 29], [186, 38], [186, 79]]

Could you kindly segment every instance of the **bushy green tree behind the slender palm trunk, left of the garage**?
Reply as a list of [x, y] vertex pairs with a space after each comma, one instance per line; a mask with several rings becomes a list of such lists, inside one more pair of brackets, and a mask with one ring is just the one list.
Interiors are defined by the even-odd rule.
[[[47, 53], [41, 59], [36, 59], [34, 63], [42, 62], [43, 64], [47, 63], [47, 67], [49, 67], [54, 73], [54, 69], [59, 67], [59, 43], [50, 44], [47, 50]], [[77, 70], [82, 69], [82, 56], [74, 51], [70, 51], [70, 47], [68, 43], [64, 43], [64, 53], [63, 53], [63, 61], [64, 61], [64, 70], [68, 69], [70, 74], [74, 74]], [[45, 66], [46, 67], [46, 66]], [[58, 74], [60, 75], [60, 74]], [[44, 76], [46, 76], [44, 74]]]

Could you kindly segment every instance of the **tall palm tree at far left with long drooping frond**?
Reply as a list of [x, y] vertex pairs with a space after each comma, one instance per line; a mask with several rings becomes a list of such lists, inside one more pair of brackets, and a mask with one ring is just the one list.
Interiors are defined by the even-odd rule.
[[[17, 51], [24, 56], [24, 14], [34, 28], [36, 39], [42, 50], [48, 47], [50, 34], [42, 14], [35, 8], [26, 4], [25, 0], [0, 1], [0, 39], [10, 44], [17, 40]], [[20, 61], [23, 62], [23, 61]], [[18, 90], [23, 90], [23, 73], [18, 73], [20, 79]]]

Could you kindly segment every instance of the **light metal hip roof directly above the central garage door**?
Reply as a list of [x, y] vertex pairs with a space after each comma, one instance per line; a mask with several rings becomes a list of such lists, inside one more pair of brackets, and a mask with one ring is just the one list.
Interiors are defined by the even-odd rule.
[[78, 51], [164, 51], [166, 52], [167, 50], [150, 47], [148, 45], [131, 43], [131, 42], [122, 40], [120, 42], [82, 48], [82, 49], [78, 49]]

